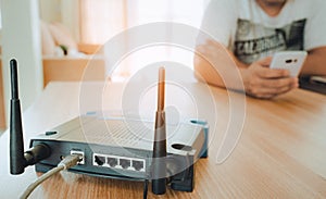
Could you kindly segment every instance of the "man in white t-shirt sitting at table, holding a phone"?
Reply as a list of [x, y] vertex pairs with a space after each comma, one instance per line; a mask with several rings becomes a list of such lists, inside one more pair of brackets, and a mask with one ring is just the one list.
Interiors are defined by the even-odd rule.
[[[210, 84], [239, 90], [226, 84], [235, 77], [226, 71], [236, 67], [247, 95], [265, 99], [298, 87], [288, 71], [268, 69], [276, 51], [305, 50], [300, 75], [326, 75], [325, 9], [325, 0], [212, 0], [202, 22], [212, 39], [198, 43], [195, 70]], [[222, 47], [234, 65], [221, 61]]]

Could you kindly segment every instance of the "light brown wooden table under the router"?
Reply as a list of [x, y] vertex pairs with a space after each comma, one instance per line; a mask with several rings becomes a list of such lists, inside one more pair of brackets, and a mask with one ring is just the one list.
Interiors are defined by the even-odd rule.
[[[104, 95], [114, 94], [104, 108], [120, 109], [118, 105], [110, 108], [110, 104], [118, 103], [116, 96], [123, 94], [123, 89], [118, 89], [118, 84], [109, 87], [115, 87], [112, 88], [115, 91]], [[192, 192], [167, 188], [166, 195], [154, 196], [149, 190], [149, 198], [326, 198], [326, 96], [296, 89], [274, 100], [259, 100], [220, 88], [206, 89], [197, 83], [186, 87], [190, 96], [201, 96], [197, 109], [201, 110], [198, 116], [206, 114], [210, 123], [210, 157], [196, 163]], [[102, 87], [90, 90], [99, 89]], [[102, 107], [84, 100], [80, 108], [79, 91], [78, 83], [49, 84], [24, 113], [25, 146], [28, 137], [72, 119], [80, 111]], [[211, 97], [213, 108], [208, 100]], [[191, 100], [188, 104], [177, 95], [173, 99], [179, 99], [180, 107], [184, 105], [190, 115], [193, 113], [190, 107], [187, 108]], [[151, 107], [149, 104], [148, 110]], [[241, 129], [241, 136], [233, 153], [218, 163], [216, 152], [223, 135], [234, 127]], [[0, 198], [17, 198], [40, 174], [29, 166], [23, 175], [10, 175], [8, 133], [0, 141]], [[142, 183], [62, 172], [45, 182], [30, 198], [142, 198]]]

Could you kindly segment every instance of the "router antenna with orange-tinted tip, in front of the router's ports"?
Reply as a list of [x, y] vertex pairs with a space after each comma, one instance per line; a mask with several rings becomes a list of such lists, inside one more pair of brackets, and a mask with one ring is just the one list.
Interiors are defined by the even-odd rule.
[[165, 69], [159, 70], [158, 111], [155, 117], [153, 161], [152, 161], [152, 192], [163, 195], [166, 191], [166, 129], [164, 112]]

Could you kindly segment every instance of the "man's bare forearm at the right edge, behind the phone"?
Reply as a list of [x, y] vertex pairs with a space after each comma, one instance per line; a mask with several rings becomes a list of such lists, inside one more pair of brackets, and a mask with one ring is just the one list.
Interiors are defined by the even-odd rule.
[[315, 48], [308, 52], [300, 75], [326, 75], [326, 47]]

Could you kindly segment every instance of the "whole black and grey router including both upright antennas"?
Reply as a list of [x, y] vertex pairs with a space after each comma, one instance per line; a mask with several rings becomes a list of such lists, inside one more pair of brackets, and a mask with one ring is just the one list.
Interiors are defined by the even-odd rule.
[[32, 149], [24, 152], [16, 61], [10, 63], [12, 174], [21, 174], [27, 165], [34, 164], [37, 172], [47, 172], [55, 167], [62, 157], [76, 153], [83, 157], [83, 161], [71, 167], [71, 172], [150, 181], [155, 195], [165, 194], [166, 186], [180, 191], [193, 190], [193, 164], [197, 159], [208, 157], [208, 125], [198, 121], [165, 124], [163, 67], [159, 74], [154, 123], [86, 114], [33, 138]]

